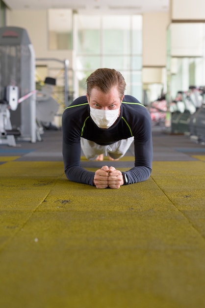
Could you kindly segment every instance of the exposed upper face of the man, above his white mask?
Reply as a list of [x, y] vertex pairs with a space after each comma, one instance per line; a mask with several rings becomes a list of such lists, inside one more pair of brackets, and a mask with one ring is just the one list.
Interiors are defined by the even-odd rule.
[[[120, 97], [117, 87], [110, 89], [109, 93], [103, 93], [99, 89], [92, 89], [90, 96], [86, 94], [90, 107], [103, 110], [120, 109], [123, 97]], [[119, 110], [120, 115], [120, 110]]]

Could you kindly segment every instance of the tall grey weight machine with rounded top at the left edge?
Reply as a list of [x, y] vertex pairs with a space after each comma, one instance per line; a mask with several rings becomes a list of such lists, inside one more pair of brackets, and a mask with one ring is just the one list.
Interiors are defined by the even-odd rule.
[[[5, 97], [8, 87], [15, 87], [21, 97], [16, 108], [11, 108]], [[0, 125], [4, 133], [1, 143], [15, 145], [6, 137], [9, 133], [6, 130], [19, 131], [20, 140], [36, 142], [35, 92], [35, 54], [27, 31], [18, 27], [0, 28]]]

